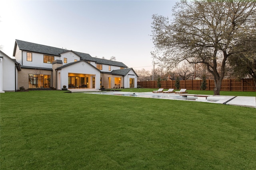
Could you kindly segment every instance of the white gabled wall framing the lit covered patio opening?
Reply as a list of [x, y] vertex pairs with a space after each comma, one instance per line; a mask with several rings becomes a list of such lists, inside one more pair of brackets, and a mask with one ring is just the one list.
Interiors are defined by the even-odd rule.
[[[60, 87], [63, 87], [64, 85], [68, 87], [68, 73], [76, 73], [95, 75], [95, 89], [100, 89], [100, 71], [84, 61], [64, 67], [58, 72], [60, 72]], [[89, 88], [92, 88], [92, 85]]]

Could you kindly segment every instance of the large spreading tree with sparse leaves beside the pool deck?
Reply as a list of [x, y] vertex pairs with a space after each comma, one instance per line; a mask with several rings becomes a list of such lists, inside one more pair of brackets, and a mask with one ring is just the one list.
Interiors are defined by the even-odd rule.
[[153, 15], [152, 56], [166, 67], [184, 60], [205, 64], [214, 77], [214, 95], [220, 95], [227, 59], [250, 51], [240, 47], [240, 40], [256, 35], [256, 1], [182, 0], [174, 6], [173, 16], [169, 21]]

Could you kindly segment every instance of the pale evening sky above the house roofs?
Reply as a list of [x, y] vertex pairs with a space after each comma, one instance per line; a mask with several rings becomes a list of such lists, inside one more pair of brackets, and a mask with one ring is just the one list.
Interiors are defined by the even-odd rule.
[[0, 45], [12, 57], [15, 39], [152, 69], [152, 15], [171, 18], [174, 0], [0, 2]]

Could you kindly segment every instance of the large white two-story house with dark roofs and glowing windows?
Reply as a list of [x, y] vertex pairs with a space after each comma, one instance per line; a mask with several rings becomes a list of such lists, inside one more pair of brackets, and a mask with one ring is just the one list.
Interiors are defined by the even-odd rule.
[[77, 51], [16, 40], [11, 59], [0, 51], [0, 92], [32, 88], [137, 88], [124, 63]]

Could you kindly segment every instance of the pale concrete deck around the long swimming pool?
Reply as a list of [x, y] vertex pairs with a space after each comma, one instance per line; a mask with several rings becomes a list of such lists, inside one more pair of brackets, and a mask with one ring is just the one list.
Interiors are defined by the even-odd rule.
[[[73, 92], [90, 92], [90, 93], [96, 93], [96, 94], [106, 94], [108, 92], [106, 91], [100, 91], [100, 90], [96, 90], [96, 89], [69, 89], [72, 93]], [[161, 97], [166, 97], [165, 99], [170, 99], [170, 100], [179, 100], [179, 99], [172, 99], [172, 96], [179, 96], [179, 94], [174, 94], [174, 93], [152, 93], [152, 92], [115, 92], [112, 91], [112, 93], [119, 93], [119, 94], [140, 94], [140, 95], [145, 95], [145, 96], [161, 96]], [[191, 98], [193, 98], [193, 96], [191, 96], [192, 94], [189, 94], [188, 96], [190, 96]], [[144, 97], [145, 97], [144, 96]], [[167, 96], [170, 96], [170, 98], [168, 98]], [[208, 95], [208, 99], [210, 100], [187, 100], [187, 101], [194, 101], [194, 102], [209, 102], [209, 103], [216, 103], [216, 104], [226, 104], [226, 105], [233, 105], [233, 106], [242, 106], [242, 107], [252, 107], [252, 108], [256, 108], [256, 97], [254, 96], [214, 96], [214, 95]], [[139, 97], [139, 96], [138, 96]], [[143, 97], [143, 96], [141, 96]], [[156, 97], [155, 97], [156, 98]], [[160, 97], [159, 97], [160, 98]], [[161, 98], [162, 99], [162, 98]], [[164, 99], [164, 98], [163, 98]], [[216, 100], [214, 102], [211, 102], [211, 100]], [[182, 99], [182, 100], [186, 100], [186, 99]]]

